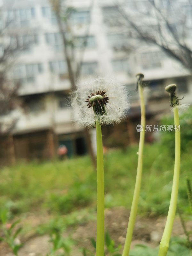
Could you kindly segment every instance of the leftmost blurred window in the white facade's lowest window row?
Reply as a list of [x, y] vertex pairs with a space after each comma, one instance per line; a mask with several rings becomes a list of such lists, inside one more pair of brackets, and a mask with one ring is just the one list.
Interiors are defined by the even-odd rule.
[[21, 83], [34, 82], [36, 76], [43, 72], [43, 66], [41, 63], [33, 64], [20, 64], [13, 68], [13, 77], [16, 81]]

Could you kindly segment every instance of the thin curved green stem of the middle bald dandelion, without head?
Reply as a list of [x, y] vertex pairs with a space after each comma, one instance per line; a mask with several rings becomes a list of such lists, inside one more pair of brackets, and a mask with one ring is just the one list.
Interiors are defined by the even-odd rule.
[[144, 96], [143, 96], [143, 88], [140, 85], [139, 85], [139, 94], [140, 94], [140, 107], [141, 107], [141, 125], [143, 126], [143, 131], [140, 132], [137, 177], [135, 182], [133, 201], [132, 201], [131, 212], [129, 216], [129, 223], [127, 227], [127, 235], [125, 239], [122, 256], [129, 255], [133, 229], [134, 229], [135, 219], [137, 214], [138, 202], [139, 202], [140, 186], [141, 186], [142, 165], [143, 165], [143, 146], [144, 146], [144, 140], [145, 140], [145, 102], [144, 102]]

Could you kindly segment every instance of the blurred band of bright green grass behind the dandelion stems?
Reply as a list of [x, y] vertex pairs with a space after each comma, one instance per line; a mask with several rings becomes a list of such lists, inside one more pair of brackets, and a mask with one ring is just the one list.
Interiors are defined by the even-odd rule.
[[[138, 146], [109, 151], [104, 156], [106, 207], [131, 207]], [[173, 158], [158, 144], [145, 145], [143, 180], [138, 211], [166, 215], [173, 176]], [[190, 153], [181, 155], [180, 208], [189, 211], [186, 191], [192, 180]], [[97, 173], [88, 156], [60, 162], [18, 164], [1, 170], [0, 208], [12, 215], [25, 212], [68, 214], [82, 207], [96, 210]]]

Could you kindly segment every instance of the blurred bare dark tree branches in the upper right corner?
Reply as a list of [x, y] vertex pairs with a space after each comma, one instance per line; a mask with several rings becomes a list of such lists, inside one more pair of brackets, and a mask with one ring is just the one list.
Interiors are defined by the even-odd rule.
[[[114, 17], [113, 19], [108, 17], [108, 21], [116, 26], [121, 26], [121, 28], [122, 26], [124, 28], [127, 27], [127, 31], [132, 31], [129, 33], [130, 38], [137, 39], [138, 42], [142, 41], [157, 45], [166, 55], [180, 62], [192, 72], [192, 49], [187, 43], [187, 39], [182, 36], [184, 28], [188, 30], [186, 14], [184, 13], [183, 15], [181, 10], [182, 5], [176, 6], [175, 2], [169, 5], [167, 2], [167, 10], [165, 10], [161, 9], [159, 5], [157, 6], [154, 1], [148, 0], [148, 3], [152, 6], [150, 13], [148, 13], [148, 19], [143, 16], [143, 12], [140, 12], [140, 10], [135, 10], [137, 12], [134, 14], [134, 12], [130, 12], [130, 9], [127, 11], [126, 6], [122, 4], [117, 6], [121, 19], [117, 17], [115, 20]], [[189, 8], [192, 8], [191, 0], [188, 1], [188, 4]], [[178, 16], [178, 13], [180, 16]], [[144, 18], [142, 19], [141, 17]], [[152, 24], [150, 19], [153, 20]], [[142, 24], [139, 24], [140, 20], [142, 20]], [[176, 22], [179, 23], [180, 28], [183, 27], [181, 35], [177, 32]], [[156, 25], [156, 29], [153, 28], [153, 24]], [[175, 29], [173, 28], [174, 26]], [[148, 28], [148, 30], [144, 31], [144, 27]], [[124, 50], [126, 50], [126, 47], [128, 48], [129, 45], [124, 45]]]

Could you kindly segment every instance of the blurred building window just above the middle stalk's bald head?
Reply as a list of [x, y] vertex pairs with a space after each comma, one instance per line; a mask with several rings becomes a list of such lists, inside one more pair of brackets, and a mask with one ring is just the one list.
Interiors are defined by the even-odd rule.
[[161, 52], [144, 52], [140, 55], [143, 69], [160, 68], [162, 60]]

